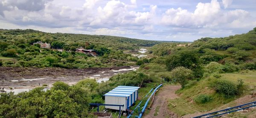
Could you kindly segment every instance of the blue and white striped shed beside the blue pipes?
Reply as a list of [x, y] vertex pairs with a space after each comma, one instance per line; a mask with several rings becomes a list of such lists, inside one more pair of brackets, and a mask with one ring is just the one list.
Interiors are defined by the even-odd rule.
[[[104, 95], [105, 104], [124, 105], [121, 110], [125, 111], [137, 100], [139, 88], [136, 86], [117, 86]], [[105, 106], [105, 108], [119, 110], [119, 106]]]

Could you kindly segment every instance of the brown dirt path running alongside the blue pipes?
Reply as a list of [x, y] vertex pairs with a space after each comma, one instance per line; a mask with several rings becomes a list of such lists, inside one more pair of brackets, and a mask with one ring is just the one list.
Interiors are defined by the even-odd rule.
[[[175, 91], [180, 88], [181, 86], [177, 85], [165, 85], [161, 87], [154, 98], [149, 113], [143, 116], [143, 118], [177, 118], [177, 115], [168, 110], [168, 100], [178, 98]], [[159, 109], [158, 114], [156, 112], [157, 109]]]

